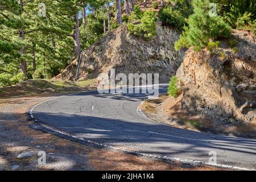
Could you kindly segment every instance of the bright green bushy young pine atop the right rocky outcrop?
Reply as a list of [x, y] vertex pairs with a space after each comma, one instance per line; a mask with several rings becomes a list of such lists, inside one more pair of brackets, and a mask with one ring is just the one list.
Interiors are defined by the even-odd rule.
[[209, 15], [209, 1], [194, 0], [193, 14], [188, 18], [188, 27], [184, 28], [180, 39], [175, 43], [175, 49], [193, 46], [200, 51], [208, 45], [209, 39], [229, 38], [231, 28], [221, 16]]

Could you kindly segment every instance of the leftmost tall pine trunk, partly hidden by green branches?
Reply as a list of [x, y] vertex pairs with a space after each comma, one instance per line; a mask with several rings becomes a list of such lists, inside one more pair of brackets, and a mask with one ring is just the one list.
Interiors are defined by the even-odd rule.
[[[23, 1], [19, 0], [18, 1], [19, 6], [21, 8], [21, 12], [20, 15], [23, 13]], [[25, 39], [25, 32], [23, 30], [23, 28], [19, 29], [19, 38], [24, 40]], [[22, 56], [20, 61], [19, 61], [19, 68], [20, 68], [20, 72], [22, 72], [24, 74], [24, 81], [27, 79], [27, 63], [26, 60], [24, 60], [24, 55], [26, 53], [26, 47], [23, 45], [22, 48], [20, 49], [20, 55]]]

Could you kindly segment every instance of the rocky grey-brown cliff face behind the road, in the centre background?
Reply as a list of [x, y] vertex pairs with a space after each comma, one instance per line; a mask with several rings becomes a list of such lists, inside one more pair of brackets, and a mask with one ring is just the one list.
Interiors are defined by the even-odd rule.
[[121, 26], [82, 53], [78, 78], [77, 60], [57, 78], [95, 78], [98, 74], [109, 73], [114, 68], [116, 74], [159, 73], [160, 82], [168, 82], [179, 68], [185, 53], [184, 50], [175, 51], [174, 43], [177, 39], [179, 34], [176, 31], [160, 24], [156, 28], [155, 39], [148, 42], [130, 35], [127, 27]]

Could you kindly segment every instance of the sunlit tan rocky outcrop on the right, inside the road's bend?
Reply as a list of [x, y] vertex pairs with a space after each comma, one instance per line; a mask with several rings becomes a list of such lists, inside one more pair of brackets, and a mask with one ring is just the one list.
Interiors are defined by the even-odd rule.
[[256, 122], [256, 37], [233, 31], [233, 39], [237, 52], [221, 41], [215, 53], [192, 48], [185, 53], [176, 76], [188, 113], [220, 122]]

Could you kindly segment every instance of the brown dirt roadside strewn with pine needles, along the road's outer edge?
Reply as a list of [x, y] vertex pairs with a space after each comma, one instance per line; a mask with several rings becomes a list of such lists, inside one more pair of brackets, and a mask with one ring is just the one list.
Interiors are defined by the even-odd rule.
[[[88, 147], [32, 129], [27, 108], [56, 96], [0, 99], [0, 170], [220, 170]], [[46, 152], [46, 165], [38, 164], [39, 151]]]

